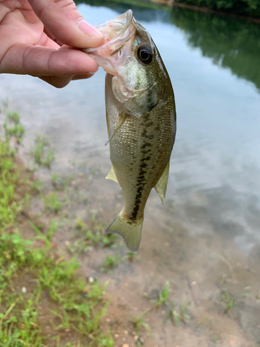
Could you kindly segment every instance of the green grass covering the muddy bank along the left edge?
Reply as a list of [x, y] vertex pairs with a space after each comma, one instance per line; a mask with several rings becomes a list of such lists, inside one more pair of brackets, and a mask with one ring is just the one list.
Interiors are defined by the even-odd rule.
[[[1, 113], [6, 115], [6, 126], [0, 134], [0, 347], [113, 347], [110, 332], [101, 331], [108, 305], [105, 287], [86, 284], [78, 277], [76, 260], [64, 261], [51, 246], [60, 221], [52, 219], [46, 235], [26, 219], [24, 230], [33, 236], [25, 237], [20, 228], [20, 212], [29, 203], [32, 187], [20, 189], [25, 184], [15, 159], [20, 133], [8, 130], [12, 122], [19, 125], [19, 117], [8, 113], [7, 104]], [[55, 195], [46, 206], [62, 208]], [[46, 323], [52, 327], [48, 334]], [[70, 342], [64, 341], [67, 329]]]

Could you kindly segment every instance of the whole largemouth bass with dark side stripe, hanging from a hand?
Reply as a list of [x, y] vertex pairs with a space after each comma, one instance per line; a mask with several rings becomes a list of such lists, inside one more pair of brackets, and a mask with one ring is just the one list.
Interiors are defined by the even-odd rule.
[[85, 49], [105, 76], [105, 107], [110, 160], [107, 179], [123, 189], [123, 208], [106, 233], [123, 237], [136, 253], [144, 208], [155, 188], [164, 203], [176, 110], [171, 80], [157, 46], [128, 10], [99, 24], [105, 43]]

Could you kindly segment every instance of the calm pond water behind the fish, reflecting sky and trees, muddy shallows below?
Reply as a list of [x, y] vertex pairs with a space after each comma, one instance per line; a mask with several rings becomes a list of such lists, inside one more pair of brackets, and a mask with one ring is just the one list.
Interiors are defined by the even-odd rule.
[[[123, 6], [78, 9], [93, 25], [125, 12]], [[134, 262], [103, 275], [98, 264], [118, 250], [94, 250], [80, 257], [83, 273], [110, 280], [122, 320], [150, 307], [144, 292], [153, 296], [166, 280], [177, 312], [191, 303], [179, 326], [164, 322], [166, 309], [148, 312], [153, 338], [145, 346], [260, 346], [260, 26], [181, 8], [133, 12], [157, 44], [175, 92], [166, 202], [150, 194]], [[24, 158], [37, 133], [48, 135], [53, 172], [73, 174], [75, 192], [85, 196], [71, 203], [73, 216], [87, 220], [95, 212], [105, 227], [121, 210], [122, 194], [104, 179], [110, 170], [104, 78], [100, 69], [55, 90], [30, 76], [0, 75], [0, 96], [21, 110]], [[46, 171], [38, 175], [48, 182]], [[57, 236], [61, 248], [69, 232]], [[118, 249], [127, 253], [121, 240]]]

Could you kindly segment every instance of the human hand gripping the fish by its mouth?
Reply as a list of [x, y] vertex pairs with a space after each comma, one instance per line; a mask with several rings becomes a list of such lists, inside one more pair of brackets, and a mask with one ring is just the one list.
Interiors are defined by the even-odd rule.
[[72, 0], [0, 0], [0, 74], [37, 76], [61, 88], [93, 76], [98, 65], [78, 48], [103, 42]]

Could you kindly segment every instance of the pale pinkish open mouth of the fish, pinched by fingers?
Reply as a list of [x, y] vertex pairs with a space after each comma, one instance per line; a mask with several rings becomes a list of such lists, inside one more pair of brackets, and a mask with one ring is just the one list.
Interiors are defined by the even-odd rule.
[[97, 48], [83, 49], [83, 51], [92, 56], [106, 72], [116, 76], [116, 65], [119, 63], [117, 53], [131, 40], [135, 33], [135, 24], [132, 10], [99, 24], [96, 28], [105, 37], [105, 44]]

